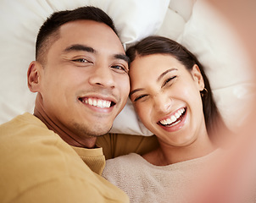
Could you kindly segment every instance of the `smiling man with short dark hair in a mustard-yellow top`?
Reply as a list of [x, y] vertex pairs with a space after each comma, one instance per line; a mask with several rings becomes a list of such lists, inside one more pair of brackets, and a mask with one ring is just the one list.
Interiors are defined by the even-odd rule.
[[109, 16], [93, 7], [53, 14], [38, 33], [27, 79], [37, 92], [34, 115], [0, 127], [1, 202], [128, 202], [100, 176], [105, 158], [95, 145], [130, 89]]

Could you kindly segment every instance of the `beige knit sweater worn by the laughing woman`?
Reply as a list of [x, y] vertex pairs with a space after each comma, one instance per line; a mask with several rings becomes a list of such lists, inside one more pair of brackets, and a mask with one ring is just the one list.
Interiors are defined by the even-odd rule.
[[131, 202], [189, 202], [201, 170], [213, 154], [158, 167], [131, 153], [107, 160], [103, 177], [123, 189]]

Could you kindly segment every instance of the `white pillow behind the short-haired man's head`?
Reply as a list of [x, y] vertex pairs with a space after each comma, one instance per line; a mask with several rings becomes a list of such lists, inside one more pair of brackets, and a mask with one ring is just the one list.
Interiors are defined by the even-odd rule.
[[[124, 43], [138, 41], [159, 30], [169, 0], [12, 0], [0, 1], [0, 123], [23, 113], [33, 112], [36, 94], [27, 87], [26, 72], [35, 60], [37, 32], [53, 11], [97, 6], [109, 14]], [[144, 134], [128, 104], [114, 123], [113, 132]], [[132, 122], [132, 121], [133, 122]]]

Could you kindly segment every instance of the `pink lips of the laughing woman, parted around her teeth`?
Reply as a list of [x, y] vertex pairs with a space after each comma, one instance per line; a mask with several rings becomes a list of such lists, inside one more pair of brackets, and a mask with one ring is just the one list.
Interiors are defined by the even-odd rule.
[[[183, 107], [182, 107], [182, 108], [183, 108]], [[182, 108], [180, 108], [180, 109], [182, 109]], [[178, 109], [178, 110], [175, 111], [175, 112], [178, 112], [180, 109]], [[181, 128], [184, 126], [184, 124], [186, 123], [186, 118], [187, 118], [186, 107], [184, 107], [184, 109], [185, 109], [185, 112], [183, 112], [183, 114], [181, 115], [181, 117], [180, 117], [179, 119], [177, 119], [177, 120], [175, 121], [175, 123], [172, 123], [172, 124], [170, 124], [170, 125], [163, 125], [163, 124], [161, 124], [160, 122], [158, 122], [159, 126], [160, 126], [162, 129], [164, 129], [164, 130], [166, 130], [166, 131], [168, 131], [168, 132], [175, 132], [175, 131], [181, 129]], [[173, 112], [171, 115], [174, 115], [175, 112]], [[171, 116], [171, 115], [170, 115], [170, 116]], [[170, 116], [165, 117], [164, 119], [170, 118]], [[161, 121], [162, 121], [162, 120], [163, 120], [163, 119], [161, 119]], [[173, 124], [174, 124], [174, 125], [173, 125]]]

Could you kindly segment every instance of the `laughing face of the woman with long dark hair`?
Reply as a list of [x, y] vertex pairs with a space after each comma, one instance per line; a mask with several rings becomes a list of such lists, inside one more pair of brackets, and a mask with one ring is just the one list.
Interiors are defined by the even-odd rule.
[[137, 57], [131, 63], [131, 101], [142, 123], [167, 145], [190, 145], [206, 127], [200, 91], [203, 77], [167, 54]]

